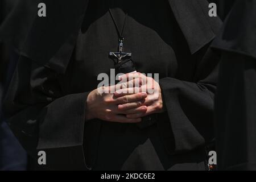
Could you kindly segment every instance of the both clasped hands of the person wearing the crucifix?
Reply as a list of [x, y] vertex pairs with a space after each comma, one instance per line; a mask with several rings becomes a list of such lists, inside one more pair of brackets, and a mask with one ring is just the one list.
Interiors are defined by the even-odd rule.
[[[122, 80], [133, 76], [133, 80], [127, 82], [129, 88], [121, 87], [114, 94], [99, 93], [98, 89], [89, 93], [86, 101], [86, 120], [97, 118], [109, 122], [138, 123], [146, 115], [162, 113], [164, 111], [161, 89], [158, 82], [141, 73], [131, 74], [134, 73], [127, 73], [119, 78], [119, 80]], [[147, 82], [149, 81], [152, 84], [148, 85]], [[139, 84], [135, 84], [138, 82]], [[136, 90], [135, 87], [138, 87], [138, 85], [139, 88]], [[117, 88], [117, 85], [114, 86]], [[110, 90], [112, 87], [109, 86], [105, 89]], [[155, 89], [157, 92], [141, 92], [142, 90], [149, 89]], [[137, 92], [138, 90], [139, 93]]]

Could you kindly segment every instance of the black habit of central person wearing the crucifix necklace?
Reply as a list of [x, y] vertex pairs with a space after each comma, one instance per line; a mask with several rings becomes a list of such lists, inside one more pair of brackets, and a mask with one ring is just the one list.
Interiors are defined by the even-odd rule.
[[[207, 169], [219, 61], [208, 47], [221, 26], [208, 2], [42, 2], [47, 17], [32, 24], [5, 102], [24, 148], [35, 158], [46, 151], [49, 169]], [[109, 8], [119, 27], [128, 13], [125, 51], [137, 71], [159, 73], [167, 111], [151, 126], [85, 121], [97, 75], [114, 67]]]

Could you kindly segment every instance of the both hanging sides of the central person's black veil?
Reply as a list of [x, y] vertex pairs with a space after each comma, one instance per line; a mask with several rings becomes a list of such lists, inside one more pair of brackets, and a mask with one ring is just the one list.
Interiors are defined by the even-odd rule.
[[[22, 54], [59, 73], [65, 72], [88, 1], [41, 1], [47, 6], [47, 16], [35, 17]], [[169, 2], [191, 53], [213, 40], [221, 27], [221, 20], [209, 17], [207, 0]]]

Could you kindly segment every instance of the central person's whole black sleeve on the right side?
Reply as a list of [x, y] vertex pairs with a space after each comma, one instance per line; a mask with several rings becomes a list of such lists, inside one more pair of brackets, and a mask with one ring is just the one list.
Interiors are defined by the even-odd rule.
[[194, 150], [214, 139], [213, 101], [219, 56], [208, 49], [196, 57], [198, 65], [192, 82], [171, 77], [159, 80], [171, 123], [169, 138], [173, 139], [168, 150], [172, 154]]

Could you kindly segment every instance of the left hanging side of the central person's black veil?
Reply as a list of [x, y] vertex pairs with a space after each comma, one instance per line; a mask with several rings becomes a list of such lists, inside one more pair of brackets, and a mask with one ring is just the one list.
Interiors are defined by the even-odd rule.
[[[57, 73], [64, 73], [75, 47], [88, 1], [40, 1], [46, 5], [46, 17], [36, 15], [21, 55]], [[39, 10], [38, 5], [36, 10]]]

